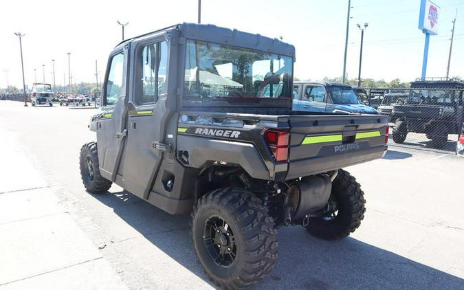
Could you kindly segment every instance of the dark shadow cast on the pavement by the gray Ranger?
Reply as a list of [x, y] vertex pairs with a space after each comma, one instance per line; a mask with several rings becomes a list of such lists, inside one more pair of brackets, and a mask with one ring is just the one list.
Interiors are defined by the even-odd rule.
[[[190, 216], [167, 214], [126, 191], [92, 197], [113, 208], [177, 263], [209, 281], [192, 249]], [[355, 238], [322, 241], [302, 227], [285, 227], [278, 240], [276, 267], [254, 289], [464, 289], [461, 278]]]

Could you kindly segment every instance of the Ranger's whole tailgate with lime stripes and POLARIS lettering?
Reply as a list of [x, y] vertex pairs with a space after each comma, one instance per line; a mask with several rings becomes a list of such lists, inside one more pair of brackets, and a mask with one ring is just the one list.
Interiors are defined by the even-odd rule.
[[289, 170], [294, 179], [379, 159], [386, 150], [384, 115], [289, 117]]

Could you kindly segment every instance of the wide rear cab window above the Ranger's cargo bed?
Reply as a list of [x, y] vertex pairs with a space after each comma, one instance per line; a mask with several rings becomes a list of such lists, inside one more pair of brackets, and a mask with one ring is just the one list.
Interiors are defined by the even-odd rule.
[[187, 41], [184, 96], [291, 98], [293, 60], [252, 49]]

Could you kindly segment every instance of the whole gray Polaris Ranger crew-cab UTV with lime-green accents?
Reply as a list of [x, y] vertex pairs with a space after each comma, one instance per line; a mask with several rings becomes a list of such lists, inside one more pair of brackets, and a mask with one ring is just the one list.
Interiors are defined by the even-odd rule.
[[276, 230], [325, 239], [364, 218], [344, 166], [382, 157], [386, 117], [291, 111], [292, 45], [184, 23], [120, 43], [109, 57], [97, 142], [82, 146], [90, 193], [122, 186], [170, 214], [192, 214], [199, 263], [221, 287], [262, 280]]

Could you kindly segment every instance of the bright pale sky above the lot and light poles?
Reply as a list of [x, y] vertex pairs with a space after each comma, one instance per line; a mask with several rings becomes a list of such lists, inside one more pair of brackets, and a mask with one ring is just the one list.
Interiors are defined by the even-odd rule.
[[[95, 82], [96, 67], [104, 72], [107, 56], [121, 41], [122, 23], [130, 38], [182, 22], [197, 22], [197, 0], [169, 1], [24, 1], [6, 0], [1, 8], [0, 87], [22, 87], [19, 39], [23, 37], [25, 83], [34, 79], [56, 85], [67, 82], [71, 52], [73, 83]], [[450, 76], [464, 78], [464, 0], [435, 0], [441, 7], [437, 36], [431, 36], [427, 76], [445, 76], [452, 20], [456, 29]], [[418, 29], [419, 0], [351, 0], [347, 74], [357, 78], [360, 30], [364, 32], [362, 78], [404, 82], [421, 74], [424, 34]], [[263, 36], [283, 36], [296, 47], [295, 76], [320, 80], [342, 76], [348, 0], [202, 0], [201, 22]], [[43, 67], [45, 65], [45, 67]], [[36, 77], [34, 75], [36, 69]]]

